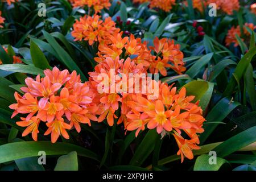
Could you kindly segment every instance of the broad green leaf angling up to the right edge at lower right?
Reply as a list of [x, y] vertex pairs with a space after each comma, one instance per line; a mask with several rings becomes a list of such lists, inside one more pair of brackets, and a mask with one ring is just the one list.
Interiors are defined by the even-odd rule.
[[[250, 129], [242, 131], [241, 133], [229, 138], [213, 150], [216, 151], [219, 157], [224, 158], [225, 156], [232, 154], [233, 152], [236, 152], [251, 143], [254, 143], [256, 141], [255, 133], [256, 126], [253, 126]], [[256, 150], [256, 147], [254, 150]]]

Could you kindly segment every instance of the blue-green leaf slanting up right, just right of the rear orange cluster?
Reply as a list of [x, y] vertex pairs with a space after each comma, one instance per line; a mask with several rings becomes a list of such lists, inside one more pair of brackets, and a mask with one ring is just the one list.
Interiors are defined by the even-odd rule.
[[204, 55], [199, 60], [196, 61], [195, 64], [192, 65], [191, 68], [188, 69], [186, 72], [187, 75], [189, 75], [191, 78], [196, 77], [196, 75], [201, 71], [201, 69], [207, 65], [212, 59], [213, 53], [208, 53], [207, 55]]

